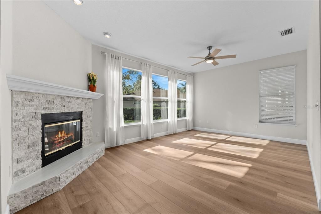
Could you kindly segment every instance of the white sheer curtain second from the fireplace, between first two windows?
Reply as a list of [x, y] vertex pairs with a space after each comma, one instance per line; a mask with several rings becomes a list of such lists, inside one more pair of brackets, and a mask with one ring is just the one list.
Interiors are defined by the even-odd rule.
[[141, 133], [143, 140], [154, 137], [152, 65], [147, 63], [142, 63]]

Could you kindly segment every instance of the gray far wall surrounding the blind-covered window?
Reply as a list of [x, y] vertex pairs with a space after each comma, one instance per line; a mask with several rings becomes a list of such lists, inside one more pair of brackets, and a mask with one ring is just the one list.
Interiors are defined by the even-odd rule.
[[[258, 123], [258, 71], [292, 65], [296, 65], [298, 126]], [[306, 50], [194, 74], [194, 127], [306, 140], [306, 104]], [[254, 124], [257, 124], [258, 128], [255, 128]]]

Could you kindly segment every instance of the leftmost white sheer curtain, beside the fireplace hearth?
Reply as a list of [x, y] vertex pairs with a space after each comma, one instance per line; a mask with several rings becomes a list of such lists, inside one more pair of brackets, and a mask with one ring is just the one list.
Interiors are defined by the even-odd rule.
[[122, 57], [106, 54], [106, 130], [105, 147], [119, 146], [125, 141], [123, 117]]

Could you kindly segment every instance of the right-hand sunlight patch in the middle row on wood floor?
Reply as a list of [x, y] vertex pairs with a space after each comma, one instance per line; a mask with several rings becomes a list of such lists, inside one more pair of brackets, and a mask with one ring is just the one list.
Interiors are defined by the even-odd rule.
[[233, 155], [253, 157], [253, 158], [257, 158], [260, 155], [260, 153], [263, 151], [263, 149], [260, 149], [260, 148], [244, 147], [244, 146], [238, 146], [238, 145], [232, 145], [232, 144], [226, 144], [226, 143], [217, 143], [206, 149], [217, 151], [217, 152], [229, 153]]

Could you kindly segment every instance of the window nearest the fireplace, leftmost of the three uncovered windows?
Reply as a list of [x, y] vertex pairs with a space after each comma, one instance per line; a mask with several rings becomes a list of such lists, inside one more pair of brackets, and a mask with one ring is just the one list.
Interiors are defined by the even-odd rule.
[[140, 122], [142, 72], [123, 67], [122, 73], [124, 123]]

